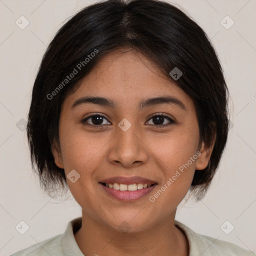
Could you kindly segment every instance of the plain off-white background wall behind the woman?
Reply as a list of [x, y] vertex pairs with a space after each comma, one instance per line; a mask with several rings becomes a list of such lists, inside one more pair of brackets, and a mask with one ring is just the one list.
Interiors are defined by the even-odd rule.
[[[53, 34], [82, 7], [95, 0], [0, 0], [0, 255], [63, 233], [80, 216], [70, 196], [63, 202], [48, 197], [32, 173], [25, 131], [33, 81]], [[256, 250], [255, 134], [255, 0], [176, 0], [206, 31], [224, 68], [230, 90], [229, 130], [221, 164], [206, 196], [178, 207], [176, 219], [195, 232]], [[29, 24], [20, 29], [16, 20]], [[229, 16], [234, 24], [220, 23]], [[230, 25], [231, 20], [225, 18]], [[199, 63], [198, 63], [199, 64]], [[20, 119], [24, 119], [21, 120]], [[16, 125], [16, 123], [18, 123]], [[21, 130], [20, 130], [21, 129]], [[23, 235], [15, 226], [25, 221]], [[234, 229], [225, 234], [228, 220]], [[229, 227], [228, 227], [229, 228]]]

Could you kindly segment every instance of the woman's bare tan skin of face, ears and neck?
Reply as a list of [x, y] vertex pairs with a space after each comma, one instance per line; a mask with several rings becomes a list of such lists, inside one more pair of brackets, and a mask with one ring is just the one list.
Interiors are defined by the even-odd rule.
[[[187, 256], [185, 234], [174, 225], [177, 205], [186, 195], [195, 169], [204, 169], [212, 146], [199, 143], [199, 127], [192, 99], [171, 79], [163, 77], [142, 54], [124, 49], [105, 55], [67, 96], [59, 119], [59, 144], [54, 143], [55, 163], [65, 175], [75, 169], [80, 178], [69, 189], [82, 208], [82, 227], [74, 234], [84, 255]], [[71, 108], [82, 96], [113, 100], [116, 108], [84, 103]], [[172, 96], [183, 102], [161, 103], [138, 109], [141, 99]], [[99, 128], [91, 114], [103, 115]], [[165, 117], [159, 127], [152, 114]], [[126, 118], [131, 127], [118, 123]], [[95, 118], [94, 118], [94, 123]], [[200, 156], [158, 197], [153, 195], [197, 151]], [[136, 201], [115, 199], [101, 189], [100, 180], [111, 176], [142, 176], [157, 182], [150, 193]], [[126, 221], [129, 230], [121, 232]]]

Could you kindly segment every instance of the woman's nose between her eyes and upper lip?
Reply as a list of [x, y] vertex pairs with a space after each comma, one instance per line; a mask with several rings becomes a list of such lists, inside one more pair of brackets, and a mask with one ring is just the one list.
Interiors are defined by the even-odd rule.
[[142, 131], [136, 125], [127, 130], [120, 127], [116, 126], [116, 133], [111, 139], [108, 161], [126, 168], [145, 164], [148, 148]]

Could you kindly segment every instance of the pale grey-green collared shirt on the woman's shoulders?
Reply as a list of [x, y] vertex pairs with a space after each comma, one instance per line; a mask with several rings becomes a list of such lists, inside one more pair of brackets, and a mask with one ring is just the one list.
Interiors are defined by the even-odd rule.
[[[68, 222], [63, 234], [53, 236], [40, 244], [33, 244], [19, 250], [11, 256], [84, 256], [75, 241], [74, 233], [81, 227], [82, 218], [78, 217]], [[185, 233], [189, 243], [189, 256], [253, 256], [250, 250], [213, 237], [198, 234], [186, 225], [174, 220], [174, 225]]]

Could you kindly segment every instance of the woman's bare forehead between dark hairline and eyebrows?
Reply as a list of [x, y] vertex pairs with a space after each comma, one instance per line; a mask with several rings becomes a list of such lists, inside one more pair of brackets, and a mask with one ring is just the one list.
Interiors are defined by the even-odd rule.
[[112, 99], [116, 106], [158, 96], [173, 96], [184, 104], [192, 103], [191, 98], [170, 78], [160, 74], [149, 59], [129, 49], [102, 57], [67, 99], [71, 104], [87, 95]]

